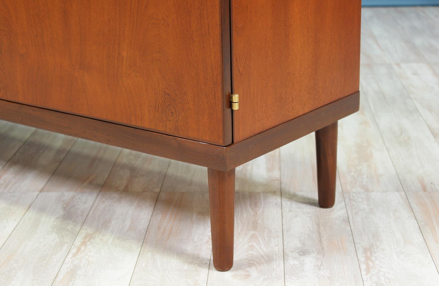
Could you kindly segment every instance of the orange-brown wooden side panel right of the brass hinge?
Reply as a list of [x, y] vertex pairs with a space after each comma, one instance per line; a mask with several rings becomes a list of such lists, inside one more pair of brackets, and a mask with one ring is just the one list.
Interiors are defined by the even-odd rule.
[[360, 0], [231, 0], [234, 141], [359, 89]]

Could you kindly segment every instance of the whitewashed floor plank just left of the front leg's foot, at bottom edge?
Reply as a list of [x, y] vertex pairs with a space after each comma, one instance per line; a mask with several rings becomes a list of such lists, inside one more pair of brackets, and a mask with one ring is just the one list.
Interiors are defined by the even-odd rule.
[[204, 286], [210, 255], [208, 194], [162, 192], [130, 286]]

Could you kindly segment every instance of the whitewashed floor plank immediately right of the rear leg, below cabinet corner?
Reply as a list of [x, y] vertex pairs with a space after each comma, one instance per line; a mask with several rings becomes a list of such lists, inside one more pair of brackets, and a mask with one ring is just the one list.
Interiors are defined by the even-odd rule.
[[338, 124], [337, 170], [343, 192], [403, 192], [365, 97]]

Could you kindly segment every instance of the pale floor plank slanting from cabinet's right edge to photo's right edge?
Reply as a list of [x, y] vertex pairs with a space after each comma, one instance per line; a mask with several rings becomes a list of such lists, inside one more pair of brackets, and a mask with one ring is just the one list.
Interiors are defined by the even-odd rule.
[[404, 191], [439, 191], [439, 148], [392, 65], [363, 65], [367, 98]]

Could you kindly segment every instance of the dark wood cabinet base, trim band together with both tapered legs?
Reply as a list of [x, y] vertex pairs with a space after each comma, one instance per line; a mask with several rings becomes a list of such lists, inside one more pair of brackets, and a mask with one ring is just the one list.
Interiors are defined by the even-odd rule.
[[208, 167], [213, 264], [233, 265], [235, 168], [316, 132], [319, 205], [335, 202], [338, 120], [358, 111], [360, 92], [227, 146], [0, 100], [0, 119]]

